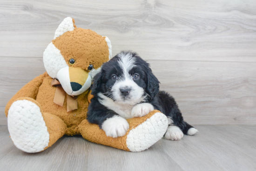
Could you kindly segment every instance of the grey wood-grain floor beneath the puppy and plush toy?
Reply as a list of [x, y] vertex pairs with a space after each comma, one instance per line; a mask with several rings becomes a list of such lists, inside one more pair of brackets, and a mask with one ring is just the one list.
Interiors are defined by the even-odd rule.
[[256, 126], [204, 125], [180, 141], [161, 139], [146, 151], [97, 145], [63, 137], [39, 153], [17, 149], [0, 126], [1, 171], [255, 171]]

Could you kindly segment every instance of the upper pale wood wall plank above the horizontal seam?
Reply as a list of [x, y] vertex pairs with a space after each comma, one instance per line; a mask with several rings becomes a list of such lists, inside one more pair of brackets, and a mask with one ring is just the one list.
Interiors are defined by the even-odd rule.
[[42, 57], [61, 21], [108, 36], [113, 54], [256, 62], [254, 0], [1, 0], [0, 56]]

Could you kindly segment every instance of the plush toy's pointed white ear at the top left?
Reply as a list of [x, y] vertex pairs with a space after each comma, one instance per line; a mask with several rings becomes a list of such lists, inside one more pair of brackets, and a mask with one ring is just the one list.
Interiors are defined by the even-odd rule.
[[60, 37], [63, 33], [73, 31], [76, 26], [74, 25], [74, 19], [71, 17], [65, 18], [55, 31], [54, 39]]

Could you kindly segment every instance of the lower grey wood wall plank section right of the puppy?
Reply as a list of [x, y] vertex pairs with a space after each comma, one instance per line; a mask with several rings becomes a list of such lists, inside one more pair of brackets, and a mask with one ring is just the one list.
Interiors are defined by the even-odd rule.
[[151, 61], [193, 125], [256, 124], [256, 63]]

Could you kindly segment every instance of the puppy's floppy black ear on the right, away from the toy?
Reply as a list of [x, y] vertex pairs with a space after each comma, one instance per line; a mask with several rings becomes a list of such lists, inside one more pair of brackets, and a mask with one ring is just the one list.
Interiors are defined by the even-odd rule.
[[159, 92], [159, 84], [160, 82], [155, 77], [155, 75], [152, 73], [152, 70], [148, 68], [147, 71], [147, 88], [146, 92], [148, 95], [153, 99], [155, 95]]

